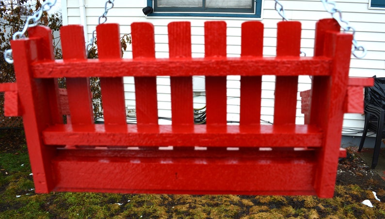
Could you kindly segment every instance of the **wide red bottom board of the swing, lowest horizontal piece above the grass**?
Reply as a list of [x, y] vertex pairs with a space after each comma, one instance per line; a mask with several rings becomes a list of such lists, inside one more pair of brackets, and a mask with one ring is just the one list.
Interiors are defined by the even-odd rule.
[[[59, 150], [56, 191], [315, 195], [315, 151]], [[199, 154], [198, 154], [199, 153]], [[100, 155], [97, 155], [100, 154]], [[243, 153], [245, 154], [245, 153]], [[285, 173], [285, 174], [283, 174]], [[263, 177], [261, 177], [263, 176]], [[273, 182], [273, 183], [272, 183]]]

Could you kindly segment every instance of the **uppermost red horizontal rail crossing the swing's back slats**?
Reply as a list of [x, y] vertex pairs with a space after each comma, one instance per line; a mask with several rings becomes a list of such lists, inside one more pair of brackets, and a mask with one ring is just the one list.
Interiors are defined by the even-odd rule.
[[[35, 78], [123, 77], [123, 76], [256, 76], [331, 74], [332, 61], [327, 57], [208, 57], [208, 58], [138, 58], [55, 62], [36, 62]], [[106, 70], [108, 69], [108, 70]]]

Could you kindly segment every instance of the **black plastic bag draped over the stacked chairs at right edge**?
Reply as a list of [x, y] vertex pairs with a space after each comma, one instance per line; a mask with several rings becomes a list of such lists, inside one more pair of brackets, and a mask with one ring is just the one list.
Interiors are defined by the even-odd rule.
[[374, 86], [365, 88], [365, 104], [373, 104], [385, 109], [385, 78], [374, 78]]

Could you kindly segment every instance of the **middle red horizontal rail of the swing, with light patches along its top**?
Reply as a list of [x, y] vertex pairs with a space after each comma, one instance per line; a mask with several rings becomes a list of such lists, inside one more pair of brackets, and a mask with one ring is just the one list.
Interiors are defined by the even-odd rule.
[[43, 132], [46, 145], [321, 147], [311, 125], [55, 125]]

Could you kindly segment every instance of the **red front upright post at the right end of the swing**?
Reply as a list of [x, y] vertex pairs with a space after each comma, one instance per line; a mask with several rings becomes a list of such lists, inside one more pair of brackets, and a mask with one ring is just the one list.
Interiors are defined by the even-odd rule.
[[[344, 114], [344, 100], [349, 79], [349, 64], [352, 47], [351, 34], [327, 33], [325, 53], [334, 57], [333, 73], [331, 76], [326, 111], [320, 115], [325, 120], [322, 128], [325, 130], [323, 150], [319, 153], [320, 169], [316, 175], [315, 187], [320, 197], [330, 197], [334, 193], [338, 152], [341, 142], [342, 121]], [[325, 89], [324, 88], [324, 89]]]

